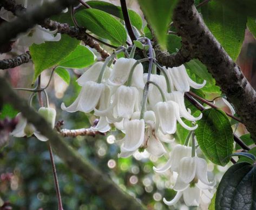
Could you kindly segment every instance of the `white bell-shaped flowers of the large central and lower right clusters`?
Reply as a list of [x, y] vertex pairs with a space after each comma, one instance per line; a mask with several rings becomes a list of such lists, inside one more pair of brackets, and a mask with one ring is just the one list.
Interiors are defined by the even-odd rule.
[[[122, 131], [124, 138], [116, 141], [121, 158], [130, 157], [137, 150], [161, 157], [167, 153], [164, 143], [174, 141], [176, 121], [189, 131], [196, 129], [197, 125], [190, 127], [182, 120], [196, 121], [202, 117], [194, 117], [186, 109], [184, 93], [190, 86], [200, 89], [206, 83], [195, 83], [184, 65], [161, 70], [162, 74], [148, 77], [142, 64], [133, 58], [119, 58], [114, 65], [98, 62], [77, 79], [82, 89], [74, 103], [68, 107], [62, 103], [61, 108], [68, 112], [93, 111], [100, 118], [96, 127], [91, 127], [93, 130], [107, 132], [114, 125]], [[178, 193], [172, 201], [164, 199], [167, 205], [175, 204], [182, 194], [188, 206], [211, 201], [213, 194], [208, 189], [213, 188], [213, 183], [207, 179], [207, 163], [192, 157], [191, 147], [177, 145], [167, 164], [154, 170], [163, 172], [169, 168], [178, 173], [173, 187]]]

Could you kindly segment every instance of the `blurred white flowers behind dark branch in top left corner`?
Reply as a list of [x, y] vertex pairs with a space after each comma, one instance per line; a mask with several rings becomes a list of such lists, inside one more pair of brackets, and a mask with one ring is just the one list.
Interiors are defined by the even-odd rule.
[[[22, 4], [27, 10], [31, 10], [36, 6], [40, 6], [44, 1], [52, 0], [16, 0], [17, 4]], [[0, 18], [4, 21], [12, 22], [17, 17], [10, 11], [5, 10], [3, 7], [0, 10]], [[40, 25], [36, 25], [34, 28], [22, 33], [18, 36], [16, 40], [16, 45], [22, 46], [23, 48], [28, 48], [31, 44], [42, 44], [46, 41], [57, 42], [61, 39], [61, 34], [56, 31], [50, 31], [48, 29], [42, 28]], [[56, 34], [56, 35], [55, 35]]]

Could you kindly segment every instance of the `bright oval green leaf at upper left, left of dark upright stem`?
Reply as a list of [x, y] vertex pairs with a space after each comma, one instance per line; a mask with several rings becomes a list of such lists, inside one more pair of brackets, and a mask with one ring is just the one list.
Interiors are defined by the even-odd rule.
[[126, 43], [124, 26], [107, 12], [97, 9], [84, 9], [75, 14], [77, 23], [95, 35], [110, 40], [115, 45]]

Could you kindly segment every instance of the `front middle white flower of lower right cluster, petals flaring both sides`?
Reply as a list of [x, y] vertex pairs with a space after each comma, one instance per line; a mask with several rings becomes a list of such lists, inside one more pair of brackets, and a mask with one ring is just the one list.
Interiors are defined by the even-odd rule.
[[179, 175], [173, 187], [175, 191], [183, 191], [196, 185], [200, 189], [212, 189], [214, 182], [207, 178], [207, 162], [199, 157], [184, 157], [180, 161]]

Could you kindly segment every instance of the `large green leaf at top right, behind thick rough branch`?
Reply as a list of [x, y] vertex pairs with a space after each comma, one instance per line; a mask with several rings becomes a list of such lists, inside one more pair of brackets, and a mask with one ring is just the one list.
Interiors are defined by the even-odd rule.
[[206, 25], [233, 60], [241, 51], [247, 22], [246, 14], [238, 10], [219, 1], [211, 1], [201, 8]]

